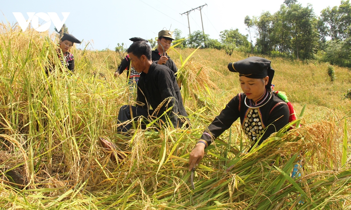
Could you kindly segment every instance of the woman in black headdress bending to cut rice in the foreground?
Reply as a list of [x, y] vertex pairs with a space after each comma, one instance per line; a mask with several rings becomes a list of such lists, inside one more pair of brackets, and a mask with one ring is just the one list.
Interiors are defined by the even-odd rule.
[[289, 123], [290, 111], [287, 103], [271, 88], [274, 76], [271, 61], [261, 57], [249, 57], [228, 64], [228, 69], [239, 73], [243, 93], [232, 98], [204, 131], [190, 153], [189, 171], [203, 159], [204, 149], [238, 118], [252, 146], [256, 141], [260, 145], [272, 133]]

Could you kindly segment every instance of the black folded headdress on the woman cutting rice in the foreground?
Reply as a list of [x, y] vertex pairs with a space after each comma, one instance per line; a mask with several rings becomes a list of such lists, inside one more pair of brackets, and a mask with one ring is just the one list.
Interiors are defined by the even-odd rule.
[[261, 57], [248, 57], [246, 59], [229, 63], [228, 69], [231, 72], [238, 72], [239, 76], [260, 79], [269, 77], [266, 87], [270, 87], [274, 77], [274, 70], [271, 67], [271, 61]]

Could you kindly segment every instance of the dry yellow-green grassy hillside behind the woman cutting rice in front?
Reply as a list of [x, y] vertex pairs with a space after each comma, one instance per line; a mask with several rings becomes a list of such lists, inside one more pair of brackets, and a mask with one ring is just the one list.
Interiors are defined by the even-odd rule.
[[[193, 49], [179, 50], [183, 57], [192, 51]], [[180, 64], [176, 53], [171, 51], [170, 56], [177, 65]], [[229, 56], [225, 51], [200, 49], [194, 53], [193, 61], [206, 61], [206, 64], [210, 64], [211, 68], [219, 73], [211, 75], [212, 82], [217, 84], [219, 89], [229, 91], [222, 100], [227, 102], [240, 91], [238, 75], [230, 72], [227, 65], [247, 56], [242, 52], [234, 52], [232, 56]], [[288, 99], [296, 106], [303, 106], [307, 103], [309, 104], [308, 109], [311, 111], [320, 110], [320, 107], [346, 112], [350, 110], [351, 100], [345, 100], [343, 97], [343, 94], [351, 87], [351, 71], [349, 69], [335, 66], [337, 79], [330, 82], [327, 74], [328, 65], [325, 63], [259, 56], [272, 61], [272, 67], [275, 70], [273, 79], [273, 84], [276, 85], [275, 89], [286, 92]], [[308, 111], [308, 113], [310, 112]]]

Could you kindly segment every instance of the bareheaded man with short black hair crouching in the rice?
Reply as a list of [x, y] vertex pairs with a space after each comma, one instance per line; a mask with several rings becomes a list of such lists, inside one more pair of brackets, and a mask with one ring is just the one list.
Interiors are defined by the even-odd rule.
[[[127, 50], [131, 66], [140, 73], [136, 106], [123, 105], [118, 114], [119, 123], [138, 120], [143, 116], [153, 120], [160, 117], [165, 123], [170, 120], [174, 127], [188, 122], [179, 86], [174, 72], [164, 65], [153, 63], [151, 47], [145, 41], [134, 42]], [[150, 107], [151, 106], [151, 107]], [[163, 124], [162, 123], [162, 124]], [[127, 132], [132, 123], [121, 125], [118, 132]], [[145, 125], [142, 125], [145, 129]]]

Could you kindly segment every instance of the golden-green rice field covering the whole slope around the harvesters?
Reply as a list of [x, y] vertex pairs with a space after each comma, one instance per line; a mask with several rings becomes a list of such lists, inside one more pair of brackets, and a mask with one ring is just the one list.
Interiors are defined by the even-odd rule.
[[[134, 95], [114, 51], [72, 49], [75, 72], [59, 66], [57, 37], [0, 24], [0, 209], [350, 209], [349, 69], [272, 59], [273, 84], [287, 93], [300, 127], [286, 126], [249, 153], [236, 121], [205, 151], [191, 188], [188, 156], [202, 131], [240, 91], [213, 49], [170, 52], [179, 68], [191, 128], [115, 132], [119, 107]], [[297, 122], [293, 122], [295, 124]], [[125, 160], [112, 161], [99, 137]], [[293, 169], [296, 175], [293, 176]], [[297, 170], [297, 171], [296, 171]], [[23, 177], [15, 185], [16, 176]]]

